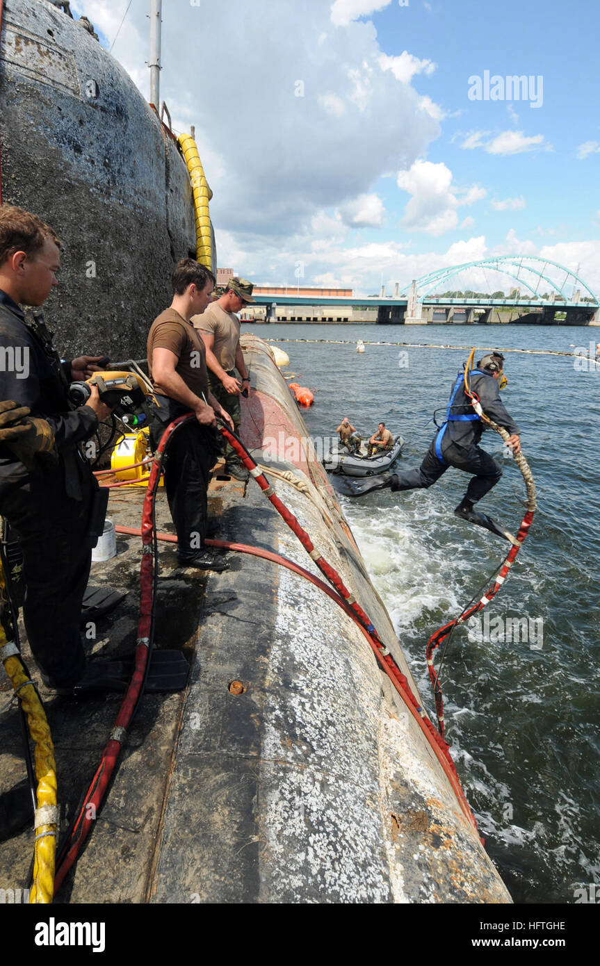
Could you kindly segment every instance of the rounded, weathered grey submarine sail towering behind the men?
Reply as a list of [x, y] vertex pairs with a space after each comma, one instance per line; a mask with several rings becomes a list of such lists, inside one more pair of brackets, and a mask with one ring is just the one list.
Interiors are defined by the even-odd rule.
[[5, 0], [0, 40], [2, 196], [64, 243], [59, 286], [44, 304], [57, 348], [146, 355], [173, 266], [195, 257], [184, 158], [78, 20], [45, 0]]

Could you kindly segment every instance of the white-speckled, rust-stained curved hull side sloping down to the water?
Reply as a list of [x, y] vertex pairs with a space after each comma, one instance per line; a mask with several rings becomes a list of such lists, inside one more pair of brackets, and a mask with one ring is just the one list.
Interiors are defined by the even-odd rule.
[[[260, 340], [243, 440], [416, 687], [306, 428]], [[283, 451], [281, 452], [283, 459]], [[303, 485], [302, 485], [303, 484]], [[229, 538], [316, 575], [250, 481], [221, 497]], [[509, 902], [432, 746], [355, 622], [310, 582], [242, 556], [211, 578], [152, 897], [211, 902]], [[214, 593], [214, 604], [210, 598]], [[244, 687], [231, 695], [232, 680]]]

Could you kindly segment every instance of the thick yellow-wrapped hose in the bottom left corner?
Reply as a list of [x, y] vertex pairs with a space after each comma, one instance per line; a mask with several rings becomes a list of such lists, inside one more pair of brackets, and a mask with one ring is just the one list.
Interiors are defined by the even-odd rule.
[[29, 733], [34, 742], [36, 765], [37, 809], [35, 812], [34, 878], [29, 895], [31, 904], [48, 903], [54, 895], [54, 858], [56, 853], [56, 834], [58, 828], [58, 807], [56, 804], [56, 764], [50, 728], [45, 717], [43, 704], [34, 685], [29, 680], [21, 664], [14, 641], [7, 639], [6, 629], [12, 632], [12, 621], [7, 611], [7, 588], [0, 563], [0, 594], [3, 611], [0, 616], [0, 661], [4, 664], [14, 693], [21, 702], [27, 716]]

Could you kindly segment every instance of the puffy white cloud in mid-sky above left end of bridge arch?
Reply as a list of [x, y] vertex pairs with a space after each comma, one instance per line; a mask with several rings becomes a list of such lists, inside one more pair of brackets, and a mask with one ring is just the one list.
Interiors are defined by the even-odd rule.
[[404, 228], [434, 236], [457, 227], [459, 206], [472, 205], [487, 194], [479, 185], [461, 193], [452, 185], [452, 172], [443, 162], [416, 160], [408, 171], [398, 172], [396, 182], [413, 195], [402, 219]]

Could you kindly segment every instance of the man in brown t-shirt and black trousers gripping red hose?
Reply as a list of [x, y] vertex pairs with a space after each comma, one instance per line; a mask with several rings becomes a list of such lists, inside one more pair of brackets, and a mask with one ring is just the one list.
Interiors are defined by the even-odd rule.
[[205, 544], [207, 487], [220, 449], [215, 415], [231, 429], [233, 421], [209, 389], [204, 343], [189, 321], [206, 308], [214, 275], [185, 258], [175, 266], [172, 283], [173, 301], [155, 319], [148, 334], [148, 368], [157, 397], [152, 437], [157, 443], [173, 419], [184, 412], [195, 414], [196, 422], [186, 423], [171, 437], [164, 460], [164, 482], [177, 530], [179, 562], [220, 572], [227, 570], [227, 561]]

